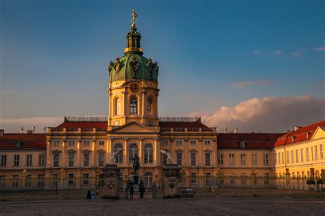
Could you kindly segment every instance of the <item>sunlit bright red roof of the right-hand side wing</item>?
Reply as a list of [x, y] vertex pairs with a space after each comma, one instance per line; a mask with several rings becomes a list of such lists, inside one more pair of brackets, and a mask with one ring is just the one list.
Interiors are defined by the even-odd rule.
[[276, 141], [276, 144], [274, 145], [274, 147], [288, 145], [288, 144], [294, 144], [299, 141], [309, 140], [315, 133], [317, 127], [319, 127], [319, 126], [325, 126], [325, 121], [321, 121], [321, 122], [317, 122], [317, 123], [310, 124], [307, 126], [303, 126], [302, 128], [298, 129], [297, 131], [290, 131], [289, 133], [286, 133], [282, 137], [279, 137], [279, 139]]

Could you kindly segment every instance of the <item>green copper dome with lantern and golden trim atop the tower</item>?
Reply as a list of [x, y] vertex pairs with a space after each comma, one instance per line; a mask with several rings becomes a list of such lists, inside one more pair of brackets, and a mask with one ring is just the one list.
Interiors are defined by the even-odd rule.
[[117, 57], [115, 62], [110, 62], [108, 66], [110, 81], [145, 79], [157, 82], [158, 63], [143, 57], [143, 49], [140, 47], [141, 34], [136, 31], [134, 20], [131, 31], [126, 36], [128, 47], [124, 49], [125, 55]]

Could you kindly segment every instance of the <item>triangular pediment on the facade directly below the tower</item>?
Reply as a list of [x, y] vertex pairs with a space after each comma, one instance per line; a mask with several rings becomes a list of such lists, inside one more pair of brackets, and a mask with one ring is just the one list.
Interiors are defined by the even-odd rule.
[[112, 129], [109, 133], [159, 133], [159, 131], [151, 129], [138, 122], [130, 122], [123, 126], [119, 126], [116, 129]]

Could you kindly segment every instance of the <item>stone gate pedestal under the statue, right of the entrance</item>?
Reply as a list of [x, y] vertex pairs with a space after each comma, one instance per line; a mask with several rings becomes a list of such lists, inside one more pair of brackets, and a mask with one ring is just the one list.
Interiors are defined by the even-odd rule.
[[167, 164], [163, 166], [164, 198], [180, 198], [178, 194], [178, 180], [180, 178], [180, 166]]

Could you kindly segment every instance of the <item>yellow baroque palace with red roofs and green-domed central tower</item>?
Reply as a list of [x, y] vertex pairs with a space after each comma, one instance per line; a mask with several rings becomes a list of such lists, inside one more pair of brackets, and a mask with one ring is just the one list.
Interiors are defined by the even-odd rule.
[[108, 66], [108, 117], [65, 117], [45, 134], [1, 130], [0, 190], [103, 187], [101, 168], [117, 151], [120, 187], [133, 172], [135, 154], [145, 187], [162, 185], [166, 158], [160, 150], [182, 167], [184, 187], [204, 187], [213, 178], [250, 187], [254, 178], [258, 187], [281, 188], [287, 172], [290, 178], [321, 175], [324, 121], [289, 133], [217, 133], [200, 118], [158, 118], [159, 67], [143, 56], [134, 20], [123, 57]]

